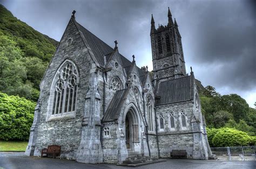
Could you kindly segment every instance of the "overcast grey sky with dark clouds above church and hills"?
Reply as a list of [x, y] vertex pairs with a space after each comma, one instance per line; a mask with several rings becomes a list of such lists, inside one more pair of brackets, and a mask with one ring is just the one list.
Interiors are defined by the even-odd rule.
[[167, 9], [182, 37], [186, 70], [221, 94], [256, 102], [256, 4], [253, 1], [4, 1], [14, 16], [60, 40], [71, 12], [76, 20], [136, 64], [152, 70], [150, 21], [166, 25]]

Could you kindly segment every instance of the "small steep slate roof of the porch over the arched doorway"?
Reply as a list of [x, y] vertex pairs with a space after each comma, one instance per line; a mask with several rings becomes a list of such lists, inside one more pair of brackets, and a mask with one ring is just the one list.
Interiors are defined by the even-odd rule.
[[114, 93], [114, 96], [104, 114], [103, 122], [114, 121], [118, 119], [121, 109], [123, 107], [123, 104], [125, 102], [125, 99], [129, 94], [129, 91], [130, 91], [130, 88], [126, 88], [123, 90], [118, 90], [116, 91], [116, 93]]

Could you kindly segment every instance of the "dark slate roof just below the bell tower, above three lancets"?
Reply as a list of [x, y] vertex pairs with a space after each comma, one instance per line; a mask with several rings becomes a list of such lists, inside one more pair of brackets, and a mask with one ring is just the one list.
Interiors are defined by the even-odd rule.
[[185, 102], [193, 97], [193, 77], [185, 76], [178, 79], [160, 82], [156, 91], [156, 104]]

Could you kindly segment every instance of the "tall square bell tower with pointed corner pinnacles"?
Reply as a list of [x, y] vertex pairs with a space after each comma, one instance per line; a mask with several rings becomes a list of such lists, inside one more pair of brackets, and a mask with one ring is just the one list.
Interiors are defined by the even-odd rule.
[[153, 59], [154, 84], [156, 80], [164, 82], [169, 79], [186, 76], [185, 60], [176, 19], [174, 23], [168, 8], [168, 24], [154, 25], [151, 18], [151, 48]]

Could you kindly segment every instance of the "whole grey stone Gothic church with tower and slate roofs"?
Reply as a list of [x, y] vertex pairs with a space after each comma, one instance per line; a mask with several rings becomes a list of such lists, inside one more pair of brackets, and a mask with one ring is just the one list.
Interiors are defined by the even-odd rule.
[[191, 69], [186, 73], [181, 36], [151, 18], [153, 76], [104, 43], [75, 19], [75, 11], [40, 84], [41, 93], [25, 154], [40, 156], [60, 145], [60, 157], [80, 163], [122, 164], [131, 154], [167, 158], [185, 150], [208, 159], [204, 117]]

